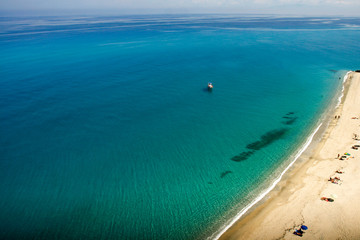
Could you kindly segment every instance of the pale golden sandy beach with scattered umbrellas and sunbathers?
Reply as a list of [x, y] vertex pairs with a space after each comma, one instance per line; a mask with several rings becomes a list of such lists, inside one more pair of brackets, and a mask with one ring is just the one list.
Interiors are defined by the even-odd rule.
[[300, 239], [293, 232], [302, 224], [303, 239], [360, 239], [360, 148], [352, 148], [360, 145], [360, 73], [351, 72], [344, 85], [319, 143], [221, 239]]

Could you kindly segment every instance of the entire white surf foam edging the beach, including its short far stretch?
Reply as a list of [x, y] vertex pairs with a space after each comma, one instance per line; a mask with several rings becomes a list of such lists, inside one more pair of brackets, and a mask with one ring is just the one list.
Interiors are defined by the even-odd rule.
[[[338, 97], [337, 104], [335, 106], [335, 109], [339, 107], [341, 104], [341, 101], [344, 97], [344, 91], [345, 91], [345, 83], [349, 77], [349, 74], [351, 71], [348, 71], [344, 78], [342, 83], [342, 90], [341, 94]], [[321, 121], [321, 118], [320, 118]], [[298, 158], [305, 152], [305, 150], [309, 147], [311, 142], [313, 141], [313, 138], [315, 134], [319, 131], [320, 127], [323, 125], [323, 122], [320, 122], [315, 130], [310, 134], [310, 136], [306, 139], [305, 143], [302, 145], [302, 147], [298, 150], [296, 153], [294, 159], [290, 162], [290, 164], [280, 173], [280, 175], [274, 180], [274, 182], [268, 187], [267, 189], [263, 190], [258, 197], [256, 197], [250, 204], [248, 204], [245, 208], [241, 209], [240, 212], [238, 212], [235, 217], [230, 219], [228, 222], [226, 222], [217, 232], [212, 234], [207, 239], [213, 239], [217, 240], [219, 239], [227, 230], [229, 230], [245, 213], [247, 213], [253, 206], [255, 206], [257, 203], [259, 203], [266, 195], [268, 195], [275, 187], [276, 185], [282, 180], [285, 173], [294, 165], [294, 163], [298, 160]]]

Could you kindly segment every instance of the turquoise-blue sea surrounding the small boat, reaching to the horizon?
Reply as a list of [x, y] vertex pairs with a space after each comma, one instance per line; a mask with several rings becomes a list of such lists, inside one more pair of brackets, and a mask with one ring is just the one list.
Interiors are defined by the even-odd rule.
[[278, 176], [359, 45], [359, 18], [1, 17], [0, 238], [211, 236]]

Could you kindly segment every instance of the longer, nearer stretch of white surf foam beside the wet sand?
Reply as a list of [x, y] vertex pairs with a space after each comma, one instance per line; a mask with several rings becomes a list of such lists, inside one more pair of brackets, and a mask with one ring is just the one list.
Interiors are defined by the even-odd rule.
[[[312, 142], [312, 139], [314, 138], [314, 135], [317, 133], [317, 131], [320, 129], [322, 123], [319, 124], [319, 126], [315, 129], [315, 131], [308, 137], [306, 140], [304, 146], [299, 150], [299, 152], [296, 154], [294, 160], [285, 168], [285, 170], [280, 174], [280, 176], [272, 183], [272, 185], [267, 188], [264, 192], [262, 192], [255, 200], [253, 200], [249, 205], [247, 205], [245, 208], [243, 208], [236, 216], [231, 219], [227, 224], [225, 224], [218, 232], [215, 232], [213, 235], [208, 237], [208, 239], [219, 239], [236, 221], [238, 221], [247, 211], [249, 211], [250, 208], [252, 208], [255, 204], [257, 204], [260, 200], [262, 200], [271, 190], [275, 188], [275, 186], [280, 182], [284, 174], [290, 169], [290, 167], [296, 162], [296, 160], [301, 156], [301, 154], [307, 149], [307, 147]], [[215, 236], [214, 236], [215, 235]]]

